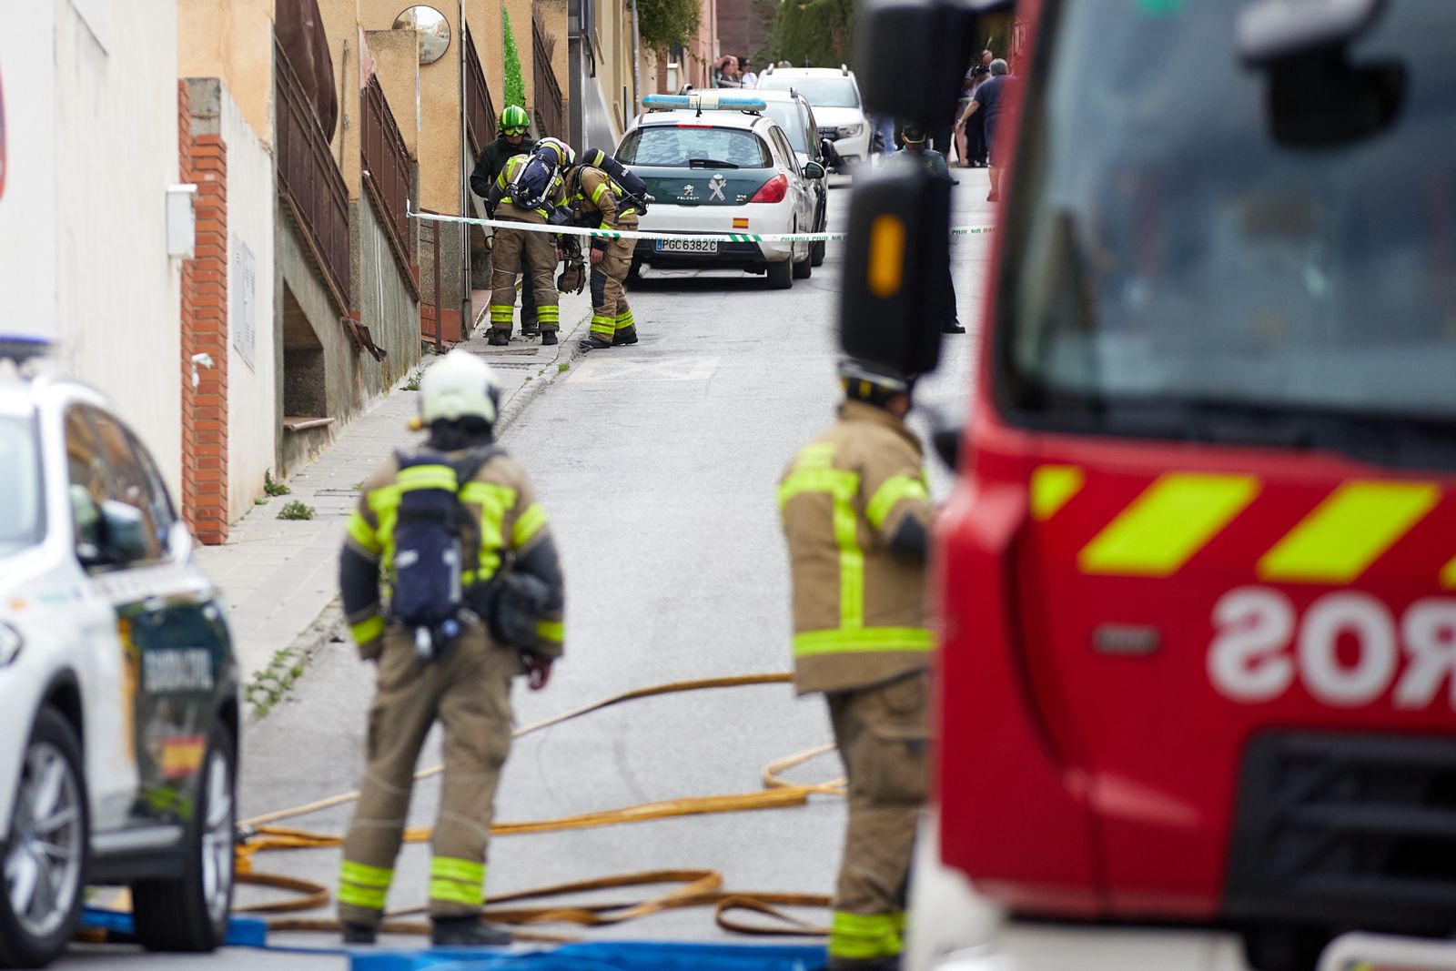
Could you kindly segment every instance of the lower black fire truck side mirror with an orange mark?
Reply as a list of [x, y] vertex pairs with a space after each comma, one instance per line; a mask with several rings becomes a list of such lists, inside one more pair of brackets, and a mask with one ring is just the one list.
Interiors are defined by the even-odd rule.
[[949, 309], [949, 237], [948, 179], [895, 166], [855, 188], [839, 310], [847, 355], [900, 374], [935, 370]]

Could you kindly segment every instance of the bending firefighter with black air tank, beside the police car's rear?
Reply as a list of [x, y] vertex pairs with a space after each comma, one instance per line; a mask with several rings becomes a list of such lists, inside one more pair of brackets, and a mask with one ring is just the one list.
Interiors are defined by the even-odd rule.
[[[642, 202], [606, 172], [609, 165], [620, 167], [601, 150], [584, 151], [566, 175], [566, 197], [579, 226], [632, 231]], [[633, 246], [636, 242], [630, 239], [591, 240], [591, 332], [578, 345], [582, 351], [638, 342], [623, 285], [632, 269]]]

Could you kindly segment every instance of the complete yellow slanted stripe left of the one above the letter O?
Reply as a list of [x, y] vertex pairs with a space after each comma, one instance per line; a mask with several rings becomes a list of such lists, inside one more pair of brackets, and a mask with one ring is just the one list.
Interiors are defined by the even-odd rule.
[[1172, 576], [1259, 492], [1254, 476], [1171, 472], [1077, 556], [1083, 574]]

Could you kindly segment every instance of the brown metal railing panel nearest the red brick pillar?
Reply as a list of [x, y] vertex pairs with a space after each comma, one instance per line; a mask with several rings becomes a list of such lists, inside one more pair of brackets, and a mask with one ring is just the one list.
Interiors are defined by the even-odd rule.
[[349, 310], [349, 194], [309, 96], [274, 38], [278, 194], [293, 213], [325, 284]]

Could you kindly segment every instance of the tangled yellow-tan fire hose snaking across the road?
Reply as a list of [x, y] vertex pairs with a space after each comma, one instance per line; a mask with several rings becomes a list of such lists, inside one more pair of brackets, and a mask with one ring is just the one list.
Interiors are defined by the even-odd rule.
[[[540, 722], [534, 722], [524, 728], [515, 729], [513, 738], [521, 738], [530, 735], [531, 732], [550, 728], [552, 725], [561, 725], [582, 715], [591, 712], [598, 712], [623, 702], [632, 702], [645, 697], [657, 697], [662, 694], [676, 694], [681, 691], [702, 691], [711, 689], [727, 689], [727, 687], [751, 687], [761, 684], [788, 684], [794, 681], [792, 674], [741, 674], [729, 677], [712, 677], [699, 678], [692, 681], [670, 681], [667, 684], [654, 684], [649, 687], [633, 689], [623, 691], [620, 694], [613, 694], [591, 705], [584, 705], [581, 708], [563, 712], [553, 718], [547, 718]], [[622, 823], [645, 823], [649, 820], [665, 820], [671, 817], [681, 815], [703, 815], [716, 812], [744, 812], [748, 809], [780, 809], [788, 806], [799, 806], [808, 802], [811, 795], [828, 795], [828, 796], [843, 796], [844, 795], [844, 779], [834, 779], [831, 782], [818, 783], [792, 783], [785, 782], [780, 776], [791, 769], [795, 769], [812, 758], [828, 754], [834, 751], [834, 745], [820, 745], [817, 748], [810, 748], [807, 751], [779, 758], [763, 767], [763, 789], [759, 792], [741, 792], [741, 793], [727, 793], [727, 795], [712, 795], [712, 796], [686, 796], [681, 799], [667, 799], [662, 802], [645, 802], [632, 806], [622, 806], [617, 809], [603, 809], [597, 812], [584, 812], [579, 815], [558, 817], [555, 820], [534, 820], [527, 823], [492, 823], [492, 836], [520, 836], [529, 833], [553, 833], [561, 830], [581, 830], [600, 825], [616, 825]], [[415, 773], [415, 779], [430, 779], [432, 776], [441, 774], [443, 766], [431, 766], [428, 769], [421, 769]], [[294, 897], [280, 901], [269, 901], [264, 904], [253, 904], [249, 907], [236, 907], [234, 913], [239, 914], [287, 914], [316, 910], [325, 907], [329, 903], [329, 888], [312, 881], [298, 879], [294, 876], [284, 876], [280, 873], [262, 873], [253, 869], [253, 857], [259, 853], [269, 850], [304, 850], [304, 849], [326, 849], [336, 847], [344, 843], [342, 837], [332, 833], [313, 833], [309, 830], [296, 830], [290, 827], [274, 825], [282, 820], [288, 820], [298, 815], [306, 815], [310, 812], [317, 812], [320, 809], [328, 809], [332, 806], [344, 805], [347, 802], [354, 802], [360, 798], [360, 793], [345, 792], [336, 796], [329, 796], [326, 799], [319, 799], [316, 802], [309, 802], [306, 805], [294, 806], [291, 809], [280, 809], [275, 812], [266, 812], [262, 815], [250, 817], [242, 820], [237, 824], [239, 830], [239, 846], [237, 846], [237, 881], [240, 884], [250, 884], [256, 887], [269, 887], [274, 889], [290, 891]], [[415, 827], [405, 830], [406, 843], [428, 843], [431, 837], [430, 827]], [[792, 913], [782, 910], [783, 907], [828, 907], [830, 898], [823, 894], [799, 894], [799, 892], [779, 892], [779, 891], [727, 891], [722, 888], [722, 875], [711, 869], [667, 869], [667, 871], [644, 871], [638, 873], [623, 873], [613, 876], [600, 876], [596, 879], [578, 881], [571, 884], [558, 884], [553, 887], [540, 887], [527, 891], [518, 891], [514, 894], [501, 894], [489, 897], [491, 907], [483, 913], [485, 920], [504, 924], [542, 924], [542, 923], [575, 923], [584, 927], [598, 927], [606, 924], [617, 924], [626, 920], [633, 920], [636, 917], [645, 917], [648, 914], [661, 913], [664, 910], [677, 910], [683, 907], [712, 907], [713, 920], [719, 927], [732, 933], [743, 935], [763, 935], [763, 936], [827, 936], [828, 929], [812, 924], [810, 922], [796, 917]], [[523, 900], [542, 900], [550, 897], [559, 897], [563, 894], [588, 892], [598, 889], [612, 889], [622, 887], [651, 887], [651, 885], [674, 885], [664, 894], [651, 897], [641, 901], [626, 901], [626, 903], [607, 903], [607, 904], [556, 904], [546, 907], [501, 907], [501, 904], [517, 903]], [[728, 914], [737, 910], [748, 910], [772, 920], [779, 922], [778, 924], [764, 923], [745, 923], [729, 917]], [[400, 920], [402, 917], [411, 917], [422, 914], [422, 907], [411, 907], [406, 910], [395, 910], [386, 914], [384, 924], [380, 927], [384, 933], [414, 933], [427, 935], [430, 933], [430, 924], [422, 920]], [[269, 930], [316, 930], [316, 932], [338, 932], [339, 923], [335, 920], [312, 919], [312, 917], [284, 917], [274, 919], [268, 922]], [[517, 940], [542, 940], [542, 942], [565, 942], [572, 940], [572, 938], [563, 938], [558, 935], [542, 935], [542, 933], [521, 933], [514, 932], [513, 936]]]

